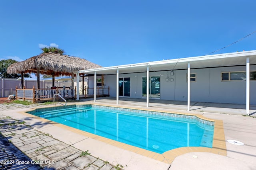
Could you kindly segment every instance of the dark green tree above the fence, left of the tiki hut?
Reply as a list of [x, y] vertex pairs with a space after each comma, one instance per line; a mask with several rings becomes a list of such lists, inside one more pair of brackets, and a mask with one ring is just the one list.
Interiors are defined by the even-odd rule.
[[[20, 74], [8, 74], [7, 68], [13, 63], [17, 63], [17, 61], [12, 59], [0, 60], [0, 78], [19, 78]], [[24, 77], [30, 77], [29, 74], [24, 74]]]

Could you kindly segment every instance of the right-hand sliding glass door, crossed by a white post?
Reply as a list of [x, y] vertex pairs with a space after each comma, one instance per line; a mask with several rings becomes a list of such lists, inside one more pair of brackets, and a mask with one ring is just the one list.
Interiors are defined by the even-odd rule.
[[[142, 77], [142, 97], [147, 97], [147, 77]], [[149, 77], [149, 97], [160, 98], [160, 76]]]

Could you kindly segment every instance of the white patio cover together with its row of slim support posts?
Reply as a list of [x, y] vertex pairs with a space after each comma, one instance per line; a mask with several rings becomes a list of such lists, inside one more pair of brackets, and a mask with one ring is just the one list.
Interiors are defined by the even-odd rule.
[[[96, 92], [96, 76], [97, 74], [109, 75], [116, 74], [116, 104], [118, 104], [118, 79], [119, 74], [146, 72], [147, 77], [147, 97], [146, 106], [149, 107], [149, 72], [164, 70], [188, 70], [188, 111], [190, 111], [190, 69], [194, 68], [214, 68], [224, 66], [245, 66], [246, 69], [246, 115], [250, 111], [250, 65], [256, 64], [256, 50], [242, 51], [236, 53], [225, 53], [218, 55], [206, 55], [199, 57], [180, 58], [172, 60], [154, 61], [147, 63], [126, 64], [120, 66], [110, 66], [95, 68], [89, 70], [79, 70], [75, 72], [83, 74], [94, 74], [94, 92]], [[79, 82], [77, 82], [79, 86]], [[78, 92], [78, 90], [77, 90]], [[79, 96], [77, 97], [79, 100]], [[94, 93], [94, 102], [96, 102], [96, 93]]]

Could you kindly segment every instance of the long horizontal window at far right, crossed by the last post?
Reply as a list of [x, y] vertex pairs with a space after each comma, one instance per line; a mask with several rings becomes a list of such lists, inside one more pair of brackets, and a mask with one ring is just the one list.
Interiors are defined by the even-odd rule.
[[[245, 81], [246, 71], [221, 72], [221, 81]], [[256, 80], [256, 71], [250, 71], [250, 80]]]

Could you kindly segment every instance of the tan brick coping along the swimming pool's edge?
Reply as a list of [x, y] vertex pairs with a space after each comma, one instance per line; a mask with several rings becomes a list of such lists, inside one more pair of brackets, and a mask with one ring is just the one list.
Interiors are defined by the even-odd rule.
[[[146, 111], [156, 111], [153, 109], [140, 109], [140, 108], [133, 108], [133, 107], [123, 107], [123, 106], [112, 106], [112, 105], [105, 105], [105, 104], [93, 104], [93, 103], [88, 103], [91, 105], [97, 105], [97, 106], [107, 106], [107, 107], [119, 107], [119, 108], [124, 108], [124, 109], [137, 109], [137, 110], [146, 110]], [[74, 105], [86, 105], [86, 104], [74, 104]], [[58, 106], [52, 106], [52, 107], [58, 107]], [[45, 108], [45, 107], [40, 107], [40, 108]], [[37, 108], [37, 109], [40, 109]], [[29, 109], [27, 111], [33, 111], [35, 109]], [[112, 145], [114, 147], [118, 147], [120, 149], [124, 149], [124, 150], [128, 150], [131, 152], [134, 152], [136, 154], [140, 154], [142, 156], [146, 156], [148, 158], [152, 158], [154, 160], [158, 160], [167, 164], [171, 164], [172, 161], [174, 160], [174, 158], [176, 158], [177, 156], [180, 156], [182, 154], [185, 153], [189, 153], [189, 152], [210, 152], [210, 153], [214, 153], [214, 154], [219, 154], [222, 156], [226, 156], [227, 155], [227, 151], [226, 151], [226, 142], [225, 142], [225, 136], [224, 136], [224, 128], [223, 128], [223, 121], [222, 120], [217, 120], [217, 119], [208, 119], [206, 117], [204, 117], [203, 115], [199, 115], [199, 114], [191, 114], [191, 113], [182, 113], [182, 112], [174, 112], [174, 111], [158, 111], [158, 112], [164, 112], [164, 113], [174, 113], [174, 114], [180, 114], [180, 115], [190, 115], [190, 116], [196, 116], [199, 119], [203, 119], [203, 120], [207, 120], [207, 121], [213, 121], [214, 122], [214, 134], [213, 134], [213, 141], [212, 141], [212, 148], [207, 148], [207, 147], [180, 147], [177, 149], [172, 149], [172, 150], [168, 150], [162, 154], [153, 152], [153, 151], [149, 151], [146, 149], [141, 149], [138, 147], [134, 147], [132, 145], [128, 145], [125, 143], [121, 143], [118, 141], [114, 141], [112, 139], [108, 139], [106, 137], [101, 137], [92, 133], [88, 133], [73, 127], [69, 127], [67, 125], [62, 125], [60, 123], [56, 123], [54, 121], [50, 121], [48, 119], [44, 119], [35, 115], [32, 115], [30, 113], [26, 113], [24, 111], [20, 111], [19, 113], [22, 113], [24, 115], [27, 115], [29, 117], [36, 117], [36, 119], [43, 121], [43, 122], [47, 122], [49, 124], [53, 124], [56, 125], [57, 127], [66, 129], [68, 131], [72, 131], [74, 133], [77, 133], [79, 135], [83, 135], [85, 137], [88, 137], [90, 139], [94, 139], [109, 145]]]

